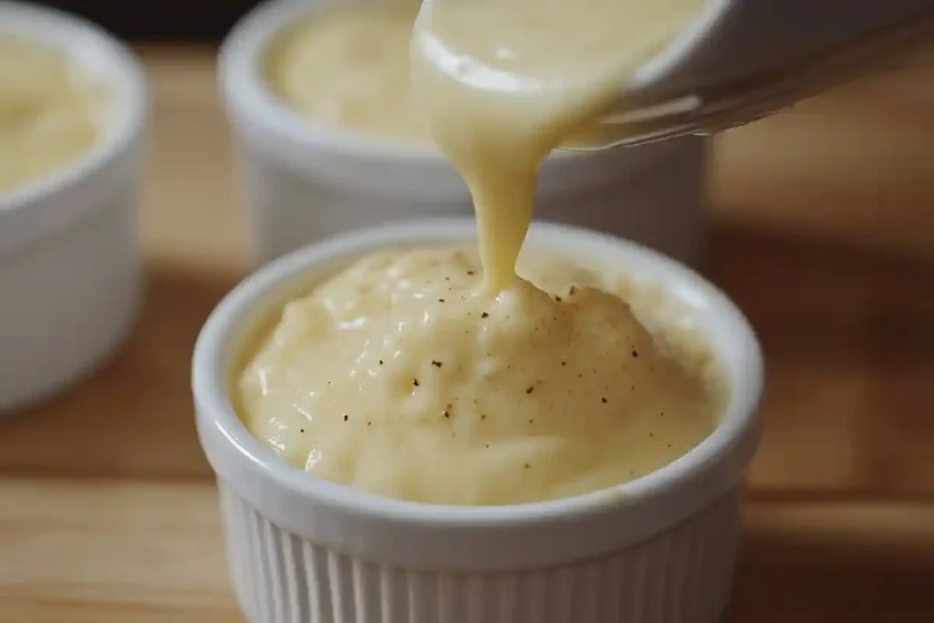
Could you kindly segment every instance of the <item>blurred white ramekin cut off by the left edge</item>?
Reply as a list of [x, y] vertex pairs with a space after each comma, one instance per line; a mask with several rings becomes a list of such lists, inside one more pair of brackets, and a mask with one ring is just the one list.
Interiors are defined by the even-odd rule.
[[[0, 415], [88, 373], [138, 306], [136, 206], [148, 97], [133, 54], [90, 22], [0, 2], [0, 35], [65, 50], [110, 90], [103, 135], [75, 163], [0, 192]], [[0, 87], [2, 88], [2, 87]]]

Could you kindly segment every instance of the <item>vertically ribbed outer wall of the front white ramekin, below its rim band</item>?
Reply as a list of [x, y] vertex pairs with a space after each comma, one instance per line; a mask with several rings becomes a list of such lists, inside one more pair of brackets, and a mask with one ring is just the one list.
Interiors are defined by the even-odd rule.
[[409, 571], [283, 531], [219, 481], [250, 623], [715, 623], [729, 601], [739, 489], [599, 559], [511, 573]]

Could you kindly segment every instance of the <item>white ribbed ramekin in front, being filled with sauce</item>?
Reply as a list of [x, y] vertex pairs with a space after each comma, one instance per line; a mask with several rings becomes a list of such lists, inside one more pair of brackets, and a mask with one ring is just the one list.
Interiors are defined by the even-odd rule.
[[[537, 223], [559, 248], [667, 291], [707, 335], [733, 389], [722, 423], [658, 472], [577, 498], [496, 507], [407, 503], [291, 467], [252, 437], [227, 389], [257, 327], [377, 248], [474, 239], [472, 219], [388, 224], [272, 262], [221, 301], [198, 338], [198, 432], [218, 477], [237, 598], [251, 623], [714, 623], [728, 602], [743, 474], [758, 439], [762, 359], [742, 313], [647, 248]], [[663, 306], [665, 308], [666, 306]]]

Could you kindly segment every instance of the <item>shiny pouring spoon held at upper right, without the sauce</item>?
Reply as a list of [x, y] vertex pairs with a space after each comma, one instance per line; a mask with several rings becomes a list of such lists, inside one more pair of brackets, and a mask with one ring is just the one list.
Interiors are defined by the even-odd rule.
[[709, 0], [614, 110], [562, 149], [710, 135], [891, 66], [934, 38], [934, 0]]

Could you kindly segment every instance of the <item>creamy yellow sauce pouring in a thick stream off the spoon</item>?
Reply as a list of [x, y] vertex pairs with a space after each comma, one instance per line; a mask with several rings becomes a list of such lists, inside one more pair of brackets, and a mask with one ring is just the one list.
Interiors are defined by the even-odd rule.
[[[412, 81], [474, 195], [487, 287], [516, 278], [539, 164], [594, 124], [703, 0], [426, 0]], [[616, 130], [618, 132], [618, 130]], [[573, 208], [569, 208], [573, 209]]]

